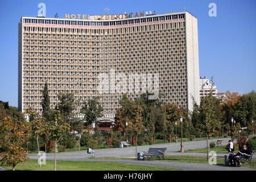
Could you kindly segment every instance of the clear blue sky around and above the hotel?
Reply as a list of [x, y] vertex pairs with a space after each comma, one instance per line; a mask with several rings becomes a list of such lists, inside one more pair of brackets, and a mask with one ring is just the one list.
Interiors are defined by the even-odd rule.
[[[46, 16], [183, 11], [198, 19], [200, 76], [214, 77], [218, 92], [255, 90], [255, 0], [157, 0], [157, 1], [13, 1], [0, 0], [0, 100], [18, 106], [18, 23], [22, 15], [36, 16], [38, 4], [46, 4]], [[210, 17], [209, 3], [216, 3], [217, 17]]]

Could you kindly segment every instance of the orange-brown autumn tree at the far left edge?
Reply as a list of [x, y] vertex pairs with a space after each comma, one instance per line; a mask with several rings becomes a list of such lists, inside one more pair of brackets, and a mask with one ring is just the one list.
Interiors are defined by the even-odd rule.
[[16, 164], [26, 163], [28, 151], [24, 144], [28, 143], [30, 127], [23, 121], [13, 119], [4, 110], [0, 110], [0, 160], [1, 164], [12, 166], [15, 170]]

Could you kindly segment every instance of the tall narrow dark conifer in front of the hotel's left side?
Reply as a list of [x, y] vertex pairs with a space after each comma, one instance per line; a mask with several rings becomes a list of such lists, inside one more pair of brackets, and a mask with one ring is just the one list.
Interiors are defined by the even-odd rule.
[[50, 107], [50, 98], [49, 98], [49, 90], [47, 82], [44, 84], [43, 93], [43, 100], [41, 102], [43, 114], [42, 117], [46, 118], [46, 121], [49, 121], [49, 117], [51, 114], [51, 107]]

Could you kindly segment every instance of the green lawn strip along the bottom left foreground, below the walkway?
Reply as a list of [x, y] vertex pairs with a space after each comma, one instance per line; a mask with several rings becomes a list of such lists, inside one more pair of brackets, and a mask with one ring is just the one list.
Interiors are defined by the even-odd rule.
[[[12, 170], [12, 167], [1, 166], [6, 170]], [[172, 169], [165, 167], [138, 166], [133, 164], [122, 163], [104, 163], [104, 162], [85, 162], [85, 161], [67, 161], [57, 160], [57, 171], [180, 171], [181, 169]], [[29, 159], [27, 164], [19, 163], [15, 171], [53, 171], [54, 160], [47, 160], [42, 167], [39, 166], [38, 160]]]

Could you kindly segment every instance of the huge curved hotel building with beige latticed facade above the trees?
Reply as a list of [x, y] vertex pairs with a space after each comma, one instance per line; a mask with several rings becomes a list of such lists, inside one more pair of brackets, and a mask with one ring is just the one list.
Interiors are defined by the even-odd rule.
[[45, 82], [51, 107], [64, 90], [80, 100], [99, 96], [106, 118], [122, 93], [136, 98], [148, 86], [191, 110], [191, 96], [199, 102], [197, 39], [197, 19], [187, 12], [108, 21], [22, 17], [19, 110], [42, 111]]

